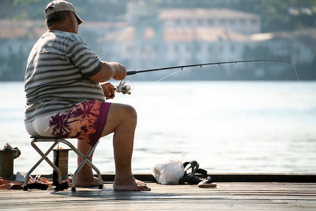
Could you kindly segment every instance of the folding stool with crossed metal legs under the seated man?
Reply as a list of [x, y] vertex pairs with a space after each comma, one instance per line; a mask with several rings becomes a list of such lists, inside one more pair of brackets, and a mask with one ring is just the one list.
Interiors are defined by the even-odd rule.
[[[82, 162], [80, 163], [80, 165], [78, 166], [78, 168], [76, 169], [75, 173], [73, 174], [72, 177], [72, 182], [71, 182], [71, 191], [76, 191], [76, 177], [77, 177], [77, 173], [80, 171], [80, 169], [84, 166], [84, 164], [86, 163], [87, 165], [89, 165], [96, 173], [97, 173], [97, 178], [98, 178], [98, 188], [102, 189], [103, 188], [103, 183], [102, 183], [102, 178], [101, 178], [101, 173], [100, 171], [89, 161], [89, 156], [91, 156], [91, 154], [93, 153], [96, 145], [98, 144], [98, 142], [90, 148], [90, 150], [88, 151], [88, 153], [86, 155], [83, 155], [73, 144], [71, 144], [69, 141], [65, 140], [65, 138], [60, 138], [60, 137], [31, 137], [33, 138], [33, 140], [31, 141], [31, 145], [33, 146], [33, 148], [41, 155], [41, 158], [39, 159], [39, 161], [31, 168], [31, 170], [26, 174], [25, 176], [25, 181], [24, 181], [24, 188], [23, 190], [27, 191], [28, 190], [28, 180], [29, 180], [29, 176], [31, 175], [31, 173], [37, 168], [37, 166], [43, 161], [45, 160], [52, 169], [54, 169], [57, 172], [58, 175], [58, 184], [60, 185], [62, 184], [62, 174], [61, 171], [57, 168], [57, 166], [52, 163], [47, 155], [49, 154], [49, 152], [52, 151], [52, 149], [59, 143], [64, 143], [67, 146], [69, 146], [78, 156], [81, 157]], [[52, 145], [49, 147], [49, 149], [46, 151], [46, 153], [42, 152], [42, 150], [40, 150], [38, 148], [38, 146], [35, 144], [36, 142], [53, 142]]]

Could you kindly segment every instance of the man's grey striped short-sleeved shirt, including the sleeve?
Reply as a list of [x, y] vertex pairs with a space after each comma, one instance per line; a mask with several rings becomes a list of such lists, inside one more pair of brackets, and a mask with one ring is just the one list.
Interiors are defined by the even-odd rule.
[[82, 38], [64, 31], [47, 31], [33, 46], [26, 67], [25, 122], [68, 111], [77, 102], [105, 101], [97, 82], [89, 77], [102, 63]]

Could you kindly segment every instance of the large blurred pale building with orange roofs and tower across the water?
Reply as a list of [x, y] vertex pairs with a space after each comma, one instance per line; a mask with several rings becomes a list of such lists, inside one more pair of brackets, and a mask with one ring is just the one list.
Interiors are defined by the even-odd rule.
[[240, 60], [260, 17], [230, 9], [159, 9], [155, 1], [127, 5], [129, 27], [98, 39], [101, 54], [131, 69]]

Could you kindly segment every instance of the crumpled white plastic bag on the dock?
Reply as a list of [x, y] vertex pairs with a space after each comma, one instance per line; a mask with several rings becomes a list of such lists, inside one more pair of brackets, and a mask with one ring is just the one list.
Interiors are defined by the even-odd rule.
[[156, 162], [151, 167], [151, 174], [158, 183], [163, 185], [177, 185], [184, 176], [183, 153], [179, 158], [170, 157], [167, 160]]

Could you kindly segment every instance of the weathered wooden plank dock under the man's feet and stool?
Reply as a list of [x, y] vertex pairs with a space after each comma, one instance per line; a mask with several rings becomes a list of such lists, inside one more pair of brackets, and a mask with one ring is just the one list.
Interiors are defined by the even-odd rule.
[[64, 191], [0, 190], [0, 209], [316, 210], [316, 182], [216, 183], [216, 188], [198, 188], [197, 185], [149, 182], [151, 191], [144, 192], [114, 191], [112, 182], [105, 182], [101, 190], [77, 188], [76, 192], [71, 192], [70, 188]]

